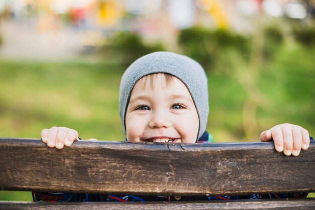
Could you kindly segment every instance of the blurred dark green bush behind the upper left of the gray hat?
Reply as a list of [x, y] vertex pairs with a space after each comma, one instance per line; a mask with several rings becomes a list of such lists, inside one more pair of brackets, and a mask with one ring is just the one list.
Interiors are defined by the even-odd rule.
[[124, 68], [139, 57], [156, 51], [165, 51], [165, 48], [160, 43], [145, 44], [139, 35], [131, 32], [114, 34], [100, 49], [101, 55], [118, 59]]

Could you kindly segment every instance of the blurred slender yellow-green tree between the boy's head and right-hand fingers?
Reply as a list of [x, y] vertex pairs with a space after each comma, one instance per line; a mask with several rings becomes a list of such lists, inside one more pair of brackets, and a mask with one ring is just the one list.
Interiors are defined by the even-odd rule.
[[[217, 64], [217, 69], [224, 72], [231, 79], [236, 80], [244, 90], [245, 98], [241, 102], [243, 110], [241, 122], [239, 123], [244, 131], [242, 139], [248, 141], [259, 139], [258, 108], [265, 109], [266, 106], [271, 104], [270, 99], [259, 88], [259, 79], [264, 65], [264, 51], [266, 49], [265, 35], [263, 28], [257, 27], [250, 39], [250, 48], [246, 49], [248, 50], [245, 52], [246, 56], [240, 50], [242, 48], [229, 48], [229, 50], [224, 50], [224, 53], [219, 54]], [[233, 92], [232, 94], [237, 93]]]

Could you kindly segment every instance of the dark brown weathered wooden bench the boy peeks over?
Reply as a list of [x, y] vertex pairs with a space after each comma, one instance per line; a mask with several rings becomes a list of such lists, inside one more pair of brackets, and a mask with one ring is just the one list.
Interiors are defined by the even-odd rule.
[[[139, 144], [0, 138], [0, 189], [146, 195], [314, 192], [315, 143], [298, 157], [272, 142]], [[0, 209], [314, 209], [315, 198], [173, 202], [0, 201]]]

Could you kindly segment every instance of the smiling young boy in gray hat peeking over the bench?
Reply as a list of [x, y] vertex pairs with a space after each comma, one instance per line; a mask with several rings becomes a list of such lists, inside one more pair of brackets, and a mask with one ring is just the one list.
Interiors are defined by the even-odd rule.
[[[207, 78], [199, 63], [171, 52], [143, 56], [125, 71], [120, 84], [119, 113], [127, 141], [210, 142], [206, 132], [209, 113]], [[41, 132], [49, 147], [62, 149], [78, 139], [75, 130], [52, 127]], [[274, 141], [278, 152], [297, 156], [309, 146], [308, 132], [295, 125], [277, 125], [261, 133]], [[294, 197], [306, 194], [181, 197], [181, 200]], [[54, 201], [152, 201], [176, 200], [173, 196], [99, 195], [33, 192], [34, 200]]]

